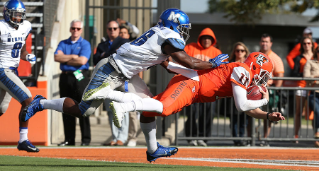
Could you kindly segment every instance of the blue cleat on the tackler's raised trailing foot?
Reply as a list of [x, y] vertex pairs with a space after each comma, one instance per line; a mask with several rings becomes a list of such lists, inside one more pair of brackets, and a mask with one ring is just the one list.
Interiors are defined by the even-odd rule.
[[34, 97], [34, 99], [32, 100], [32, 102], [26, 106], [21, 115], [20, 115], [20, 120], [22, 122], [26, 122], [27, 120], [29, 120], [34, 114], [36, 114], [39, 111], [42, 111], [44, 108], [43, 106], [40, 104], [40, 100], [42, 99], [46, 99], [41, 95], [36, 95]]

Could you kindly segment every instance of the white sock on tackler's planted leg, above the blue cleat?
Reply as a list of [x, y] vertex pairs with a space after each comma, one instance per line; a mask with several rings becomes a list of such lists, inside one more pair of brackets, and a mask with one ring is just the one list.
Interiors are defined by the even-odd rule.
[[156, 122], [150, 123], [140, 123], [141, 129], [144, 133], [147, 151], [153, 154], [157, 150], [157, 140], [156, 140]]

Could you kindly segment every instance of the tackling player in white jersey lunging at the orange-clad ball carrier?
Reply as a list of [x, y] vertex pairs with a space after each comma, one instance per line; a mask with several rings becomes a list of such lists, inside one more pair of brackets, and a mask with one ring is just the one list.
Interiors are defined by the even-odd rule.
[[[152, 97], [146, 84], [137, 74], [157, 64], [166, 68], [170, 56], [183, 66], [196, 70], [209, 69], [227, 63], [223, 62], [228, 57], [227, 55], [218, 56], [210, 62], [188, 56], [184, 51], [184, 46], [189, 38], [190, 28], [189, 18], [183, 11], [165, 10], [156, 26], [150, 28], [136, 40], [123, 44], [116, 54], [101, 60], [96, 65], [91, 81], [79, 104], [71, 98], [46, 100], [38, 95], [24, 109], [23, 121], [27, 121], [37, 111], [43, 109], [53, 109], [75, 117], [87, 117], [92, 115], [106, 98], [119, 102], [130, 102], [133, 99]], [[132, 93], [125, 94], [124, 92]], [[147, 118], [141, 116], [141, 120], [143, 119]], [[118, 127], [121, 126], [118, 119], [115, 119], [114, 123]], [[147, 123], [142, 126], [145, 136], [149, 135], [149, 127], [153, 125]], [[156, 143], [148, 143], [147, 147], [149, 161], [171, 156], [177, 152], [177, 148], [166, 148]]]

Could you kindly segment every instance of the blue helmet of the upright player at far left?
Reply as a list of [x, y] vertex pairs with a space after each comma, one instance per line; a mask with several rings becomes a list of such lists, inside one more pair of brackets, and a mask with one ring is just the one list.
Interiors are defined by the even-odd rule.
[[24, 4], [20, 0], [7, 1], [3, 7], [3, 18], [11, 26], [18, 27], [26, 18]]

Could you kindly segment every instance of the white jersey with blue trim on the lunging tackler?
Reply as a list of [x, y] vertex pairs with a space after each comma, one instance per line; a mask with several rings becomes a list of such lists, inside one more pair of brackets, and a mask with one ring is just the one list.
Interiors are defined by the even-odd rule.
[[113, 54], [113, 58], [127, 78], [165, 61], [169, 56], [163, 54], [164, 42], [183, 50], [185, 41], [181, 36], [166, 27], [155, 26], [130, 43], [123, 44]]

